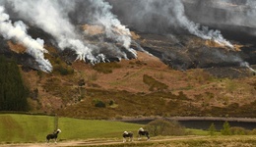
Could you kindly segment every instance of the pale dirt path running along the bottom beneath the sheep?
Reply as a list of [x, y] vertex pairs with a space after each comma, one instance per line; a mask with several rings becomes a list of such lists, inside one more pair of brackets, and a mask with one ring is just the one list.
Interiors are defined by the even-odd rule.
[[[186, 139], [200, 139], [207, 136], [181, 136], [181, 137], [168, 137], [164, 139], [151, 139], [153, 142], [163, 142], [171, 140], [186, 140]], [[134, 140], [133, 142], [145, 142], [146, 140]], [[61, 141], [57, 144], [51, 143], [18, 143], [18, 144], [0, 144], [0, 147], [68, 147], [68, 146], [96, 146], [96, 145], [114, 145], [123, 144], [122, 139], [116, 140], [72, 140], [72, 141]]]

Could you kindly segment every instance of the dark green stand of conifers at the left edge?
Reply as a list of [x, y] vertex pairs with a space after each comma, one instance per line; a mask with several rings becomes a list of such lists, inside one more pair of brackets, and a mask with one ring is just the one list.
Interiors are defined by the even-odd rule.
[[13, 60], [0, 56], [0, 111], [28, 111], [29, 89]]

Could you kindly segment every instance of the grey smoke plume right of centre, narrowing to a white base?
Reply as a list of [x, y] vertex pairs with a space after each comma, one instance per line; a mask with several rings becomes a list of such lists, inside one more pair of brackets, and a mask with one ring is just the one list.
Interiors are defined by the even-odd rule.
[[116, 10], [123, 15], [124, 22], [139, 30], [166, 34], [179, 31], [182, 27], [198, 37], [233, 48], [233, 45], [224, 39], [221, 31], [190, 21], [181, 0], [110, 0], [110, 2], [120, 7]]

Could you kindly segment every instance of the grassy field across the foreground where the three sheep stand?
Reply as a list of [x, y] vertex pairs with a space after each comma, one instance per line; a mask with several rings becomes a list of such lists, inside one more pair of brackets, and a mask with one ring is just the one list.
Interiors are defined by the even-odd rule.
[[[54, 117], [34, 115], [0, 115], [0, 146], [10, 143], [21, 143], [21, 146], [43, 145], [46, 134], [54, 129]], [[119, 123], [110, 121], [79, 120], [59, 118], [58, 126], [62, 130], [59, 134], [59, 145], [65, 143], [91, 143], [94, 146], [153, 146], [153, 147], [253, 147], [256, 146], [256, 135], [224, 136], [218, 132], [210, 136], [208, 131], [187, 129], [193, 135], [185, 136], [155, 136], [151, 141], [122, 143], [122, 132], [130, 130], [136, 132], [141, 124]], [[136, 137], [136, 135], [135, 135]], [[109, 144], [105, 144], [110, 142]], [[112, 142], [112, 143], [111, 143]], [[29, 144], [23, 144], [29, 143]], [[19, 145], [18, 144], [18, 145]], [[72, 146], [76, 146], [72, 144]], [[80, 144], [80, 145], [79, 145]], [[83, 146], [83, 145], [82, 145]], [[88, 146], [88, 145], [87, 145]], [[90, 145], [89, 145], [90, 146]]]

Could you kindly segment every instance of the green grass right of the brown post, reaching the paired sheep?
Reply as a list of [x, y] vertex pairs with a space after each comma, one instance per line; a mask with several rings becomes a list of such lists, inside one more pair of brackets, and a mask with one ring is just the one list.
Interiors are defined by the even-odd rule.
[[62, 138], [64, 139], [122, 137], [124, 130], [136, 132], [142, 126], [134, 123], [76, 120], [69, 118], [61, 118], [59, 122], [59, 127], [62, 128], [61, 130], [68, 132], [62, 134]]

